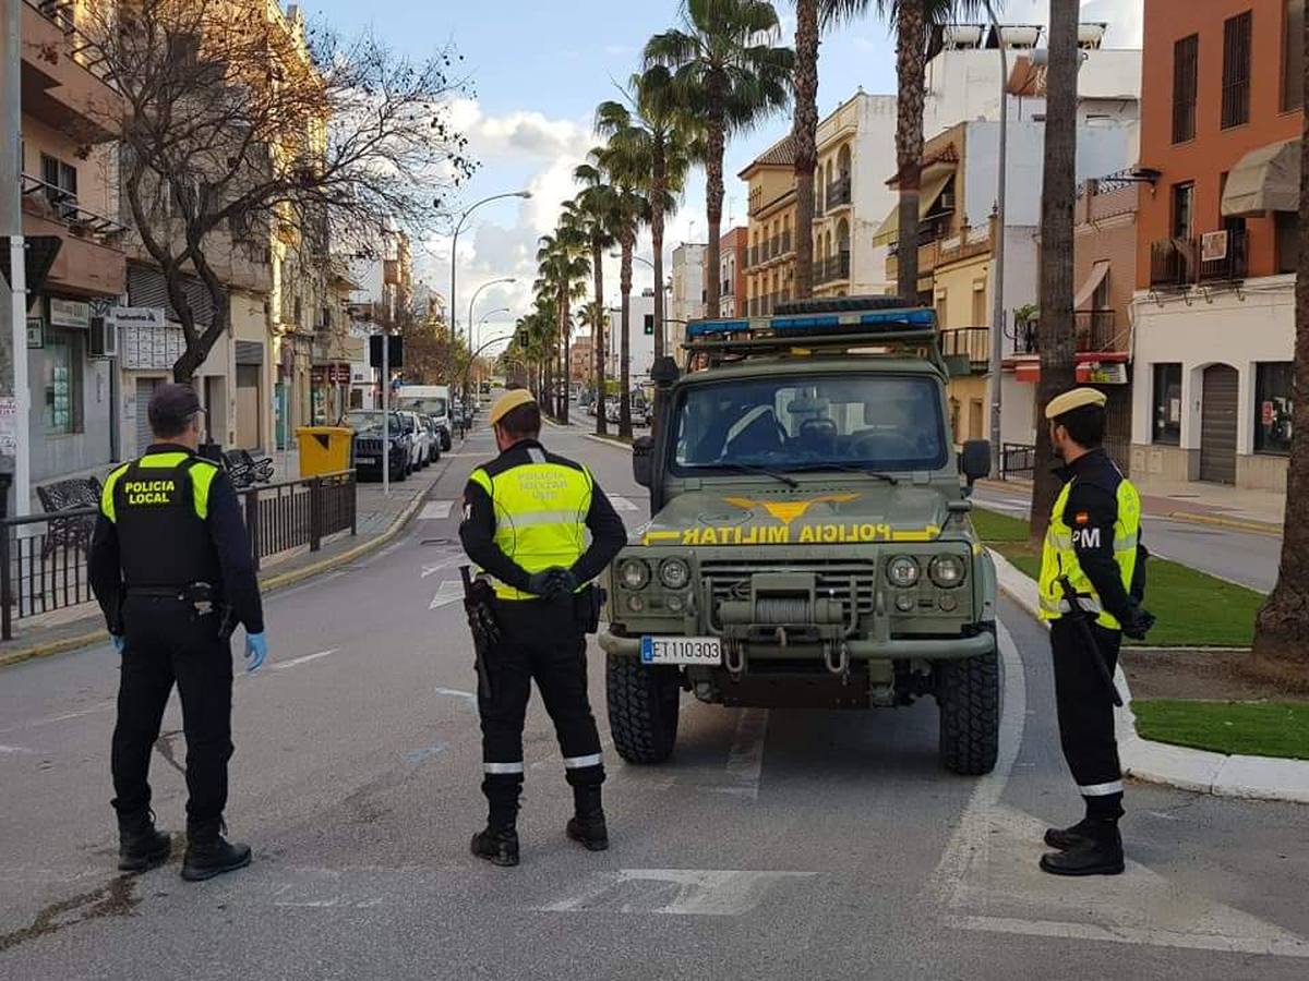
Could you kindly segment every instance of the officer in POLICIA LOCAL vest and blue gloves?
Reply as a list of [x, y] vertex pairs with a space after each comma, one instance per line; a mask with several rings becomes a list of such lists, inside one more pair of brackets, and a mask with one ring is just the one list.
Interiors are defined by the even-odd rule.
[[114, 727], [118, 867], [139, 872], [168, 859], [154, 828], [151, 752], [177, 684], [186, 734], [186, 858], [198, 882], [250, 863], [250, 846], [223, 835], [232, 756], [232, 653], [245, 624], [247, 671], [267, 655], [259, 583], [236, 492], [196, 455], [203, 409], [185, 385], [149, 402], [154, 442], [105, 483], [90, 552], [90, 583], [122, 654]]

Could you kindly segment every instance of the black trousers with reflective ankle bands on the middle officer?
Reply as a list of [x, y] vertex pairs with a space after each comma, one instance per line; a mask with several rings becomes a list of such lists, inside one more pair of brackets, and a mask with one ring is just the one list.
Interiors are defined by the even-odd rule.
[[509, 820], [522, 785], [522, 726], [533, 679], [555, 725], [568, 782], [598, 786], [605, 768], [586, 698], [586, 636], [575, 599], [496, 600], [495, 619], [500, 638], [484, 658], [490, 685], [478, 685], [482, 789], [492, 814], [499, 810]]

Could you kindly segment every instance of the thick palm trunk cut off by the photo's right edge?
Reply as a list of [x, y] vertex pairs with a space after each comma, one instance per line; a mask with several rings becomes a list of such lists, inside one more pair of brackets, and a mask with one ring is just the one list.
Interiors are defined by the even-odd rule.
[[[1309, 24], [1300, 39], [1309, 51]], [[1309, 72], [1302, 84], [1309, 93]], [[1305, 105], [1309, 105], [1306, 102]], [[1300, 137], [1300, 158], [1309, 160], [1309, 115]], [[1300, 169], [1300, 268], [1296, 275], [1295, 391], [1287, 509], [1278, 583], [1254, 621], [1254, 666], [1285, 680], [1309, 684], [1309, 167]]]

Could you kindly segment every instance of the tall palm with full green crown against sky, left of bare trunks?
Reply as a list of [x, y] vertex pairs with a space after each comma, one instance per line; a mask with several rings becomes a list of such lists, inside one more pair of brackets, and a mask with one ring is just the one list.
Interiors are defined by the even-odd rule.
[[704, 123], [708, 317], [719, 315], [723, 153], [728, 137], [787, 105], [795, 54], [774, 44], [779, 35], [766, 0], [686, 0], [681, 26], [645, 43], [645, 68], [673, 69], [675, 98]]

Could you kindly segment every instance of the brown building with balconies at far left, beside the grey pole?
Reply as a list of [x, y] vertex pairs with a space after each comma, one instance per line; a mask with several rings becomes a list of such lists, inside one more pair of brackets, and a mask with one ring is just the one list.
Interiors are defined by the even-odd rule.
[[75, 5], [17, 3], [22, 234], [59, 242], [27, 311], [29, 432], [17, 438], [37, 485], [103, 467], [119, 453], [110, 310], [127, 275], [114, 156], [124, 107], [77, 54]]

